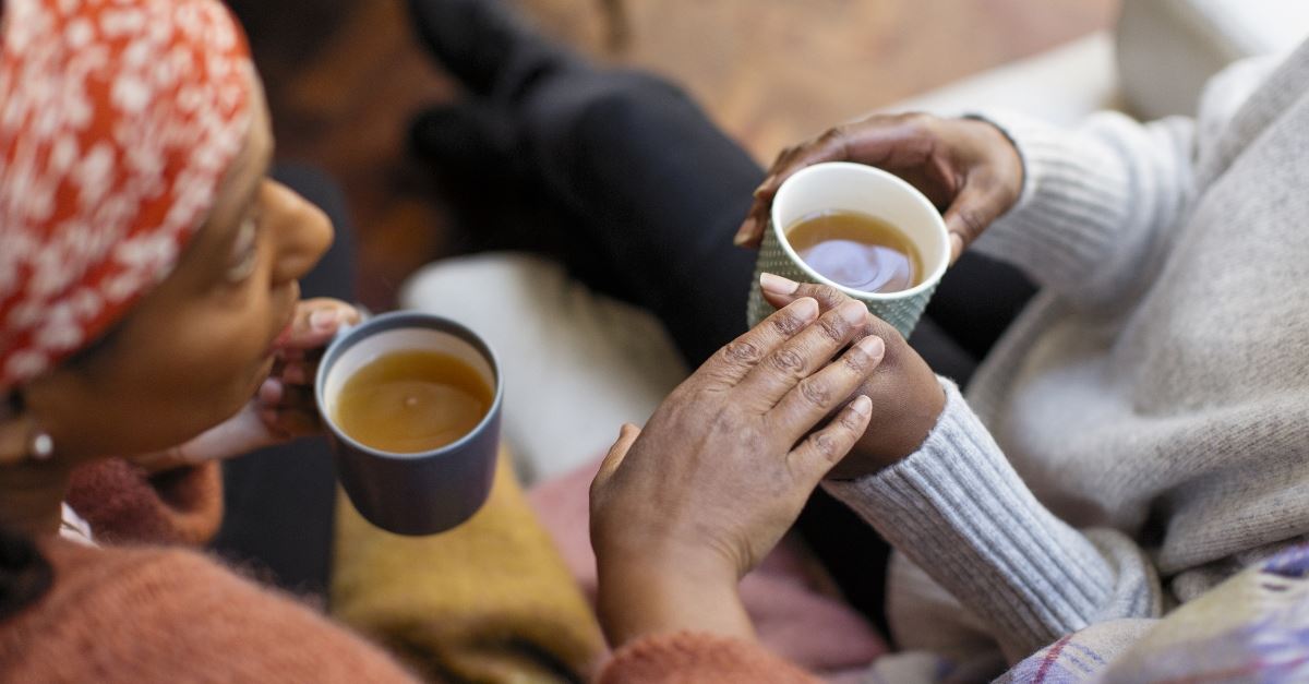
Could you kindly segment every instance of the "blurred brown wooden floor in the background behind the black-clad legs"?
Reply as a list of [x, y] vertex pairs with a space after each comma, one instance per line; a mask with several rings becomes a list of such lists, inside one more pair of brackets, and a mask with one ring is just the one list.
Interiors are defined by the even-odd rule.
[[[545, 33], [683, 84], [757, 159], [826, 126], [1107, 26], [1118, 0], [508, 0]], [[459, 250], [406, 124], [459, 89], [419, 50], [401, 0], [232, 3], [267, 80], [279, 155], [346, 187], [361, 300]]]

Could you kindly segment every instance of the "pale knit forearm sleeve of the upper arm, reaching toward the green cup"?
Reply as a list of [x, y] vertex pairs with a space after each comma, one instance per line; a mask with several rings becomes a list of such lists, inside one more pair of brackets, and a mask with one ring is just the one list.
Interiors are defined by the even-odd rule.
[[1194, 195], [1191, 119], [1141, 124], [1102, 113], [1068, 131], [1014, 113], [978, 118], [1014, 142], [1024, 190], [975, 249], [1073, 305], [1111, 304], [1153, 273]]

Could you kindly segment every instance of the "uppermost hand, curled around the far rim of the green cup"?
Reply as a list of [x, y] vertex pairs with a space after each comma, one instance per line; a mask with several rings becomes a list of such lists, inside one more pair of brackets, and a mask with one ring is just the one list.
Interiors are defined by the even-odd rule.
[[1022, 193], [1022, 159], [991, 123], [929, 114], [876, 114], [783, 149], [754, 191], [736, 242], [758, 246], [781, 182], [822, 161], [877, 166], [927, 195], [945, 212], [952, 262]]

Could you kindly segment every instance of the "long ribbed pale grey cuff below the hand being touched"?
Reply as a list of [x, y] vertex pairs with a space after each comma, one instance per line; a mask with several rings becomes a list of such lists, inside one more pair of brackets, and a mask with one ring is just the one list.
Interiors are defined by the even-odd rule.
[[941, 384], [945, 411], [918, 452], [826, 486], [1021, 658], [1085, 626], [1113, 591], [1113, 569], [1037, 502], [958, 388]]

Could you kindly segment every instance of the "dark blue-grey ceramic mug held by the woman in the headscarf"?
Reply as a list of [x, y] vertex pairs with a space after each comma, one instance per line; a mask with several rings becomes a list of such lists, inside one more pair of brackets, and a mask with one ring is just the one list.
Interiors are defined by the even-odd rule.
[[[380, 356], [412, 350], [449, 354], [493, 388], [482, 421], [450, 444], [414, 453], [368, 447], [342, 431], [332, 413], [346, 381]], [[369, 318], [343, 330], [327, 347], [314, 393], [331, 436], [336, 477], [368, 522], [399, 535], [433, 535], [463, 523], [486, 502], [495, 478], [504, 379], [495, 352], [467, 328], [420, 312]]]

